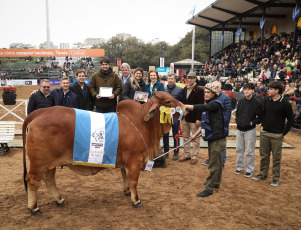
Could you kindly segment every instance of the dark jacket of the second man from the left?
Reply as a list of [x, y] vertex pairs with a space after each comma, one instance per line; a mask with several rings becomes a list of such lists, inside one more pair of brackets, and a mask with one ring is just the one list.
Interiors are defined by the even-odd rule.
[[77, 96], [72, 91], [69, 90], [66, 95], [64, 95], [62, 88], [56, 88], [51, 92], [54, 98], [54, 105], [66, 106], [69, 108], [78, 108]]

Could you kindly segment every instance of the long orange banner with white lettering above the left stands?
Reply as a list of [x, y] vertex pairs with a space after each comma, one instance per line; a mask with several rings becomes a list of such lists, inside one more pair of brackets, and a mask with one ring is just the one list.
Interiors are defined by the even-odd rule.
[[104, 49], [0, 49], [0, 57], [104, 57]]

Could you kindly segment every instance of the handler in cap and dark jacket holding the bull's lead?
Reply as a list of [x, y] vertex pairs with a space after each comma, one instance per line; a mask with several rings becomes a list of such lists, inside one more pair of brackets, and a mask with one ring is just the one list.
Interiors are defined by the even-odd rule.
[[224, 122], [223, 104], [217, 99], [218, 90], [215, 85], [205, 85], [205, 105], [186, 105], [190, 111], [202, 112], [201, 127], [189, 140], [194, 140], [200, 133], [203, 139], [208, 141], [209, 171], [210, 175], [205, 182], [205, 190], [198, 193], [198, 197], [206, 197], [213, 194], [215, 188], [220, 187], [223, 172], [222, 156], [226, 147], [225, 132], [229, 126]]

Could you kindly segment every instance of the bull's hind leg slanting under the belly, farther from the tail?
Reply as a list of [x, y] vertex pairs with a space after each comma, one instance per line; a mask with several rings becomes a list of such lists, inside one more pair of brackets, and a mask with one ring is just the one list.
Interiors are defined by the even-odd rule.
[[56, 172], [56, 168], [50, 169], [47, 172], [45, 172], [45, 174], [43, 175], [43, 180], [49, 190], [49, 192], [51, 193], [54, 202], [62, 207], [65, 205], [65, 200], [64, 198], [61, 197], [61, 195], [59, 194], [57, 187], [56, 187], [56, 183], [55, 183], [55, 172]]

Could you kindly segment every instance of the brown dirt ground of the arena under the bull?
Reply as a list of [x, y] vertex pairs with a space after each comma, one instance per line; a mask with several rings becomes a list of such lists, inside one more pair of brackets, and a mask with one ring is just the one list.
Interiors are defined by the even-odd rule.
[[[26, 99], [37, 87], [18, 88], [18, 99]], [[24, 113], [24, 108], [17, 110]], [[284, 138], [294, 148], [283, 149], [278, 187], [269, 185], [271, 169], [265, 181], [235, 175], [235, 149], [228, 148], [221, 187], [206, 198], [196, 193], [204, 189], [209, 174], [201, 165], [207, 149], [200, 149], [199, 162], [193, 166], [169, 157], [166, 168], [141, 172], [138, 193], [144, 207], [140, 209], [124, 196], [120, 169], [84, 177], [58, 168], [57, 186], [67, 205], [56, 206], [41, 182], [41, 216], [31, 216], [27, 210], [22, 148], [11, 148], [0, 157], [0, 229], [301, 229], [300, 140], [301, 134], [294, 132]], [[255, 174], [259, 161], [256, 149]]]

